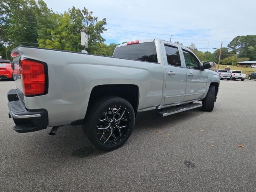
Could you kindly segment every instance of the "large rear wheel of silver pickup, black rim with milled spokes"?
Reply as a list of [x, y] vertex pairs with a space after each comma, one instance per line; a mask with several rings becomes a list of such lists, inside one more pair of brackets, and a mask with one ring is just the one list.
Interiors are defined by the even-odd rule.
[[134, 109], [127, 100], [105, 96], [89, 106], [82, 128], [96, 148], [111, 151], [128, 140], [134, 124]]

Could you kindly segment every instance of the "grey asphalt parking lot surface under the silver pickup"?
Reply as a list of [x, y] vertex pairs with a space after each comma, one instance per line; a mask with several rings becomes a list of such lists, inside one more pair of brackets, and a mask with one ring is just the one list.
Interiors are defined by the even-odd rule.
[[256, 191], [254, 80], [222, 80], [213, 112], [138, 114], [112, 152], [95, 149], [80, 126], [14, 132], [6, 105], [14, 87], [0, 80], [0, 191]]

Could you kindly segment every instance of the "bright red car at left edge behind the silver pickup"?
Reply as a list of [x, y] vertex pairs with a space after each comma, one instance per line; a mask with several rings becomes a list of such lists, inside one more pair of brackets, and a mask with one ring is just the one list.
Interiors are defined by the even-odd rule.
[[16, 79], [12, 63], [9, 60], [0, 60], [0, 79]]

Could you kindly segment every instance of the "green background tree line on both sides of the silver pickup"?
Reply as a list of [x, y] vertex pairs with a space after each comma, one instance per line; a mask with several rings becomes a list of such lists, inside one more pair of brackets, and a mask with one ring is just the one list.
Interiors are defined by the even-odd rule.
[[[107, 30], [106, 18], [99, 20], [93, 12], [83, 8], [69, 8], [58, 13], [48, 8], [43, 0], [0, 1], [0, 55], [5, 58], [19, 45], [36, 46], [81, 52], [80, 32], [88, 35], [88, 53], [112, 56], [115, 43], [106, 45], [102, 34]], [[182, 44], [180, 42], [175, 42]], [[188, 46], [198, 58], [218, 63], [220, 49], [213, 53]], [[231, 65], [245, 60], [256, 60], [256, 35], [236, 36], [222, 48], [221, 64]]]

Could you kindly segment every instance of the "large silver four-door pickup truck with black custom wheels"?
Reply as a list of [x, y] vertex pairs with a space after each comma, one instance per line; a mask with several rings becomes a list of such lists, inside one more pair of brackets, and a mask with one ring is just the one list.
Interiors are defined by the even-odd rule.
[[118, 148], [138, 112], [212, 111], [220, 76], [191, 50], [160, 39], [118, 45], [113, 57], [19, 46], [16, 89], [8, 92], [16, 132], [81, 125], [100, 150]]

